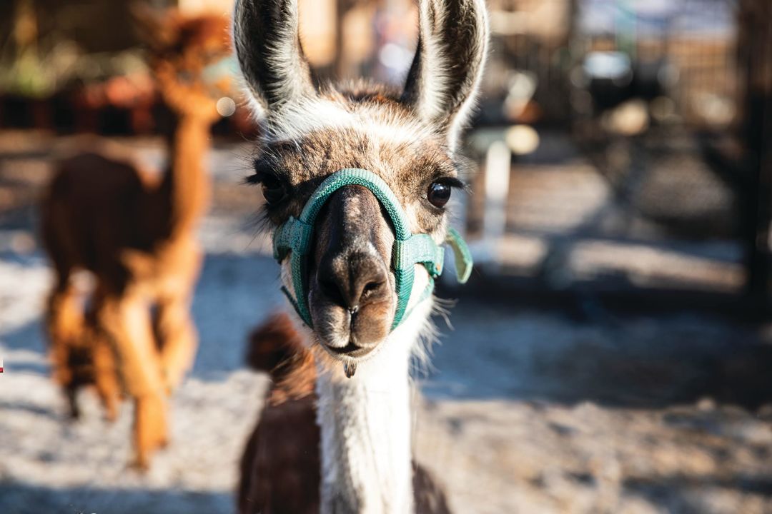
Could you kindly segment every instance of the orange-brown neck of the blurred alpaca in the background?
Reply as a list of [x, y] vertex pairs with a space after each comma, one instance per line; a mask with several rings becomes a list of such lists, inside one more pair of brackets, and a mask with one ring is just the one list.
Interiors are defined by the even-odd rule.
[[208, 120], [181, 116], [171, 136], [170, 170], [162, 191], [168, 200], [171, 238], [189, 233], [204, 215], [209, 201], [206, 175]]

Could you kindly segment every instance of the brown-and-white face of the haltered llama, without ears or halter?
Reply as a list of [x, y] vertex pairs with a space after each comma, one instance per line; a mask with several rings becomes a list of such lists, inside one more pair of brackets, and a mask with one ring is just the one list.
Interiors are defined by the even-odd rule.
[[[265, 214], [274, 227], [289, 216], [299, 217], [324, 178], [358, 167], [377, 174], [394, 191], [412, 233], [428, 233], [442, 243], [445, 203], [452, 188], [462, 185], [455, 163], [442, 137], [376, 91], [357, 101], [340, 100], [340, 109], [345, 107], [357, 123], [312, 128], [295, 139], [272, 136], [262, 143], [254, 179], [262, 183]], [[364, 357], [388, 335], [397, 304], [390, 220], [370, 190], [345, 186], [324, 205], [315, 228], [308, 272], [313, 326], [320, 342], [334, 352], [347, 348]], [[289, 262], [283, 265], [285, 287], [292, 291]], [[423, 291], [427, 284], [425, 268], [416, 267], [414, 287]]]

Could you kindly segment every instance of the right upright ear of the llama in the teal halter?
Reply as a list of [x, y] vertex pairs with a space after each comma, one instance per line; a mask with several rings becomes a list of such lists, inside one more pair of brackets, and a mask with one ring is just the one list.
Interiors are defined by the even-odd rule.
[[455, 148], [474, 106], [488, 49], [484, 0], [420, 0], [418, 49], [402, 102]]

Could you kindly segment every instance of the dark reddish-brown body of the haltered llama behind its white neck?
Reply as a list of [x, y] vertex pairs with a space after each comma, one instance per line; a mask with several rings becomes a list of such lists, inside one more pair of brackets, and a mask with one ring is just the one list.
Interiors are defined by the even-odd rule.
[[[313, 355], [289, 317], [274, 314], [250, 335], [247, 361], [270, 371], [273, 384], [242, 454], [239, 514], [316, 514], [321, 462]], [[445, 493], [416, 462], [413, 492], [417, 514], [450, 512]]]

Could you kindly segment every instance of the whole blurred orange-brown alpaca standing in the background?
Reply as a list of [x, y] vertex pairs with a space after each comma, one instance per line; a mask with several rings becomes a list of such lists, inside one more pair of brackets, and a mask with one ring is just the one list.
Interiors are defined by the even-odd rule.
[[[167, 442], [168, 396], [195, 357], [195, 229], [208, 204], [215, 103], [230, 91], [230, 79], [205, 78], [230, 48], [224, 17], [143, 9], [137, 21], [175, 115], [167, 173], [153, 180], [100, 153], [63, 160], [42, 201], [42, 238], [56, 271], [47, 312], [54, 379], [73, 416], [81, 385], [96, 385], [110, 419], [121, 395], [133, 398], [136, 464], [146, 468]], [[96, 279], [86, 308], [71, 281], [79, 269]]]

